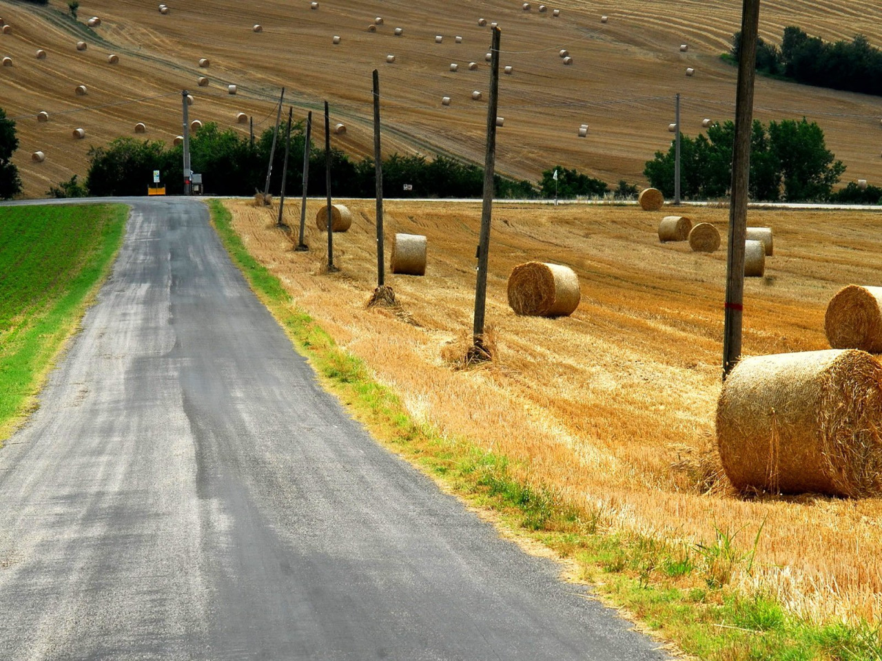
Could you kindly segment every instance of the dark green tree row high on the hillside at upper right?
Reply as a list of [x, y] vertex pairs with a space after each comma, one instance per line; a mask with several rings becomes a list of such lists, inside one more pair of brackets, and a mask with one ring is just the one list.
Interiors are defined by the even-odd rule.
[[[732, 37], [731, 56], [741, 49], [741, 33]], [[863, 34], [852, 41], [823, 41], [796, 26], [784, 28], [781, 48], [760, 39], [757, 70], [805, 85], [882, 95], [882, 50]]]

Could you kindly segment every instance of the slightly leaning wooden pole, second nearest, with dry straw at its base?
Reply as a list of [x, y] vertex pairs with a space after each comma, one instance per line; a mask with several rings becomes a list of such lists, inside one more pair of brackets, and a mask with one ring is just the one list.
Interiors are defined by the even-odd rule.
[[493, 212], [493, 175], [496, 167], [496, 130], [499, 95], [499, 43], [502, 31], [493, 28], [490, 50], [490, 98], [487, 104], [487, 153], [484, 158], [484, 200], [481, 211], [481, 236], [478, 243], [478, 277], [475, 285], [475, 325], [470, 354], [486, 356], [484, 343], [484, 315], [487, 305], [487, 265], [490, 254], [490, 219]]

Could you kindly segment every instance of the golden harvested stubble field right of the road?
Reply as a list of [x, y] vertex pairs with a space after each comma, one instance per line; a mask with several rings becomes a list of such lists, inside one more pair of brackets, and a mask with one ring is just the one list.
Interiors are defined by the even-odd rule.
[[[660, 244], [655, 214], [624, 207], [497, 204], [490, 244], [488, 322], [497, 358], [461, 370], [470, 338], [479, 204], [387, 201], [385, 229], [424, 234], [422, 278], [390, 275], [399, 308], [365, 307], [376, 286], [373, 203], [346, 201], [347, 234], [307, 223], [311, 250], [292, 250], [277, 209], [229, 201], [234, 226], [296, 305], [318, 319], [407, 411], [442, 434], [519, 460], [519, 477], [599, 510], [611, 524], [701, 542], [759, 525], [759, 570], [736, 576], [810, 617], [882, 617], [882, 500], [745, 498], [710, 451], [721, 391], [724, 251]], [[308, 217], [321, 201], [310, 201]], [[728, 211], [694, 209], [725, 237]], [[828, 348], [827, 301], [844, 283], [878, 281], [882, 239], [870, 213], [751, 212], [774, 227], [766, 277], [745, 284], [744, 352]], [[299, 223], [299, 209], [286, 217]], [[725, 241], [725, 239], [724, 239]], [[570, 317], [516, 316], [506, 282], [524, 258], [572, 267], [581, 302]]]

